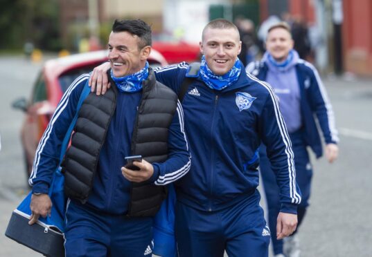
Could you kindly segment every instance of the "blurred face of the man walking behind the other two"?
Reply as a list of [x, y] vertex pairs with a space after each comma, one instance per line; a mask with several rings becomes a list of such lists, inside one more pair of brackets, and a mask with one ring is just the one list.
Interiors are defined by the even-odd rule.
[[267, 34], [266, 49], [278, 62], [287, 59], [288, 53], [293, 49], [293, 45], [292, 36], [285, 28], [274, 28]]

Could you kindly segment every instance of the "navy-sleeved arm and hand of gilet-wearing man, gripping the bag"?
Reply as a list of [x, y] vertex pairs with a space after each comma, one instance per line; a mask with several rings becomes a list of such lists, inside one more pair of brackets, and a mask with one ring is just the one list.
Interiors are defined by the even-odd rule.
[[88, 75], [78, 77], [64, 93], [37, 147], [33, 171], [29, 179], [30, 186], [33, 187], [29, 225], [37, 222], [39, 216], [46, 218], [51, 213], [52, 203], [48, 190], [53, 172], [60, 162], [62, 140], [75, 115], [76, 105], [87, 79]]

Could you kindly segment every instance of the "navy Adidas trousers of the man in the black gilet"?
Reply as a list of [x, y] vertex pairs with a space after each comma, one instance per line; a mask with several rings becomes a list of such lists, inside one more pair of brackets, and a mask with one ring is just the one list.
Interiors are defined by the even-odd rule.
[[67, 257], [152, 256], [152, 218], [101, 213], [72, 201], [65, 217]]

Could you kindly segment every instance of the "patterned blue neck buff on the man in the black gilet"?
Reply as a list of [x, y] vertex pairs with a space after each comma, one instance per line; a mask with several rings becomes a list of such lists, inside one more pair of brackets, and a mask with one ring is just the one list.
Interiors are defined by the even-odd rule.
[[126, 93], [138, 92], [142, 89], [143, 80], [148, 78], [148, 61], [146, 61], [145, 68], [137, 73], [125, 77], [115, 77], [111, 70], [111, 77], [119, 91]]

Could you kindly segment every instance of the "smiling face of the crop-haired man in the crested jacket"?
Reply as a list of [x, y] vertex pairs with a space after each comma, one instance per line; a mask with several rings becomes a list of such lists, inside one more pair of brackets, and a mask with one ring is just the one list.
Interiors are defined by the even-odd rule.
[[241, 46], [238, 30], [207, 27], [200, 42], [200, 52], [215, 75], [224, 75], [235, 64]]

